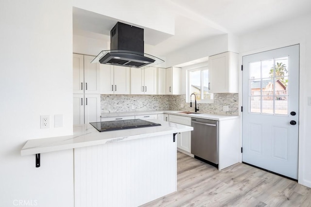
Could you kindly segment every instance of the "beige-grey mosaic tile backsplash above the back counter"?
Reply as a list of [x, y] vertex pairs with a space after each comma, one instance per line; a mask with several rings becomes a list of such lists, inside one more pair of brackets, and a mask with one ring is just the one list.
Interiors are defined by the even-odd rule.
[[[197, 104], [199, 112], [239, 115], [238, 94], [214, 94], [213, 104]], [[184, 108], [181, 108], [181, 104]], [[223, 111], [228, 106], [229, 111]], [[125, 112], [146, 110], [194, 111], [186, 103], [186, 95], [101, 95], [102, 112]]]

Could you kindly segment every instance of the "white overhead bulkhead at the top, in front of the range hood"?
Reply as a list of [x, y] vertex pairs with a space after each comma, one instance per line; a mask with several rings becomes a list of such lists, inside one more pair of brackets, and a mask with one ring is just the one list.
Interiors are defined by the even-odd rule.
[[166, 0], [73, 0], [73, 6], [128, 23], [174, 34], [174, 16]]

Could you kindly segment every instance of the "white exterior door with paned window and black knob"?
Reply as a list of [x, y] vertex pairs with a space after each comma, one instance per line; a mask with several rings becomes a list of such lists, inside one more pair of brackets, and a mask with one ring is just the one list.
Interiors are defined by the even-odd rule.
[[242, 161], [298, 179], [299, 45], [243, 57]]

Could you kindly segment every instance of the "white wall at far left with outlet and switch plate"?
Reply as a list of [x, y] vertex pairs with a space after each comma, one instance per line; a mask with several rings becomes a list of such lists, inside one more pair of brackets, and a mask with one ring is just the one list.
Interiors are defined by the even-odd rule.
[[72, 150], [41, 154], [39, 168], [20, 156], [29, 139], [72, 134], [71, 2], [1, 0], [0, 31], [0, 206], [73, 206]]

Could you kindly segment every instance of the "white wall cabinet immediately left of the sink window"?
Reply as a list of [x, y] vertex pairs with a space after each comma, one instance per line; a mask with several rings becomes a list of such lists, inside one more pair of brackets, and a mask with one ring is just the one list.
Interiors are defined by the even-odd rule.
[[166, 95], [180, 95], [181, 94], [181, 68], [169, 67], [166, 68]]

